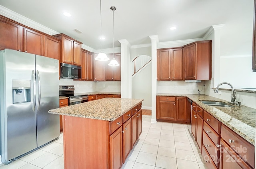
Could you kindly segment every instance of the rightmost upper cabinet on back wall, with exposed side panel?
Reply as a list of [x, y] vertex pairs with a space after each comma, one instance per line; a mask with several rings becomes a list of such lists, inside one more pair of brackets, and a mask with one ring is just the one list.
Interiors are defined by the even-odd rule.
[[212, 40], [198, 41], [183, 46], [184, 79], [211, 80]]

